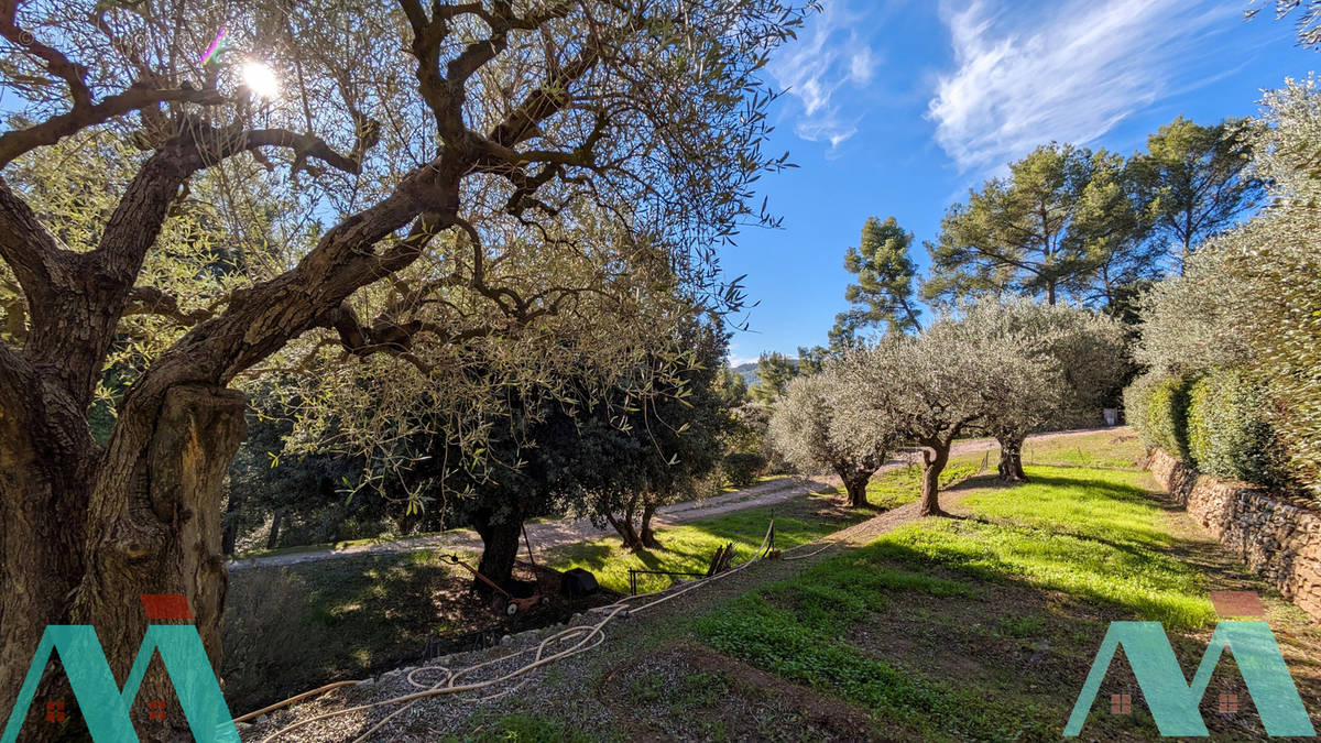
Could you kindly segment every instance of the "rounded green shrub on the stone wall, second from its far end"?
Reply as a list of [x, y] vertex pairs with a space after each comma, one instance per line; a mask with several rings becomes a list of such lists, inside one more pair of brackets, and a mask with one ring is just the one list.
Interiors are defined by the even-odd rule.
[[1207, 475], [1279, 485], [1266, 386], [1239, 369], [1202, 377], [1189, 393], [1188, 448]]

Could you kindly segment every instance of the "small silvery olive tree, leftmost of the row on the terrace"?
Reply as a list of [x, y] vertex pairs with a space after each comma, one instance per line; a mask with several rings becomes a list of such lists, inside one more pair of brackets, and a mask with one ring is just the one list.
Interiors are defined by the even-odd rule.
[[836, 412], [843, 383], [834, 369], [791, 381], [775, 403], [770, 438], [799, 472], [831, 469], [839, 475], [848, 505], [865, 508], [867, 483], [885, 464], [894, 435], [884, 426], [843, 426]]

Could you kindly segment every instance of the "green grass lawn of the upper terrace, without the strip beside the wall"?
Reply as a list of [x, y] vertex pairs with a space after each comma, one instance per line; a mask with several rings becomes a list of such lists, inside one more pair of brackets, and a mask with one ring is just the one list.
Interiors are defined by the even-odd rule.
[[[974, 480], [959, 518], [914, 522], [745, 594], [701, 616], [697, 637], [864, 707], [873, 735], [1058, 738], [1073, 702], [1059, 689], [1079, 687], [1107, 619], [1196, 633], [1215, 615], [1128, 442], [1036, 453], [1055, 465], [1028, 467], [1030, 484]], [[1149, 718], [1122, 719], [1120, 735], [1153, 731]]]

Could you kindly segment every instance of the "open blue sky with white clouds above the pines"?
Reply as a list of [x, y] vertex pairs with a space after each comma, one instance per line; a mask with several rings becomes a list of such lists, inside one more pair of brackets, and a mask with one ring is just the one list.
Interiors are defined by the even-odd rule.
[[732, 364], [826, 344], [847, 307], [844, 250], [868, 215], [922, 241], [970, 186], [1050, 140], [1132, 153], [1182, 114], [1258, 111], [1317, 53], [1266, 3], [1198, 0], [826, 0], [770, 66], [771, 151], [799, 167], [762, 178], [783, 229], [745, 230], [721, 254], [745, 280], [749, 329]]

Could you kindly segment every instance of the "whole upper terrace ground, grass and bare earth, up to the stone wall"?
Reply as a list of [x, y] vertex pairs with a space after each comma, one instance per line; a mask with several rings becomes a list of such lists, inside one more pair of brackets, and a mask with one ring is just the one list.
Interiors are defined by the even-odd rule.
[[[602, 649], [530, 686], [543, 691], [474, 710], [461, 739], [1054, 740], [1112, 620], [1184, 627], [1172, 641], [1190, 673], [1210, 635], [1207, 588], [1262, 592], [1304, 702], [1321, 709], [1321, 629], [1145, 492], [1136, 442], [1099, 434], [1026, 453], [1033, 485], [974, 479], [956, 488], [963, 520], [918, 522], [806, 570], [768, 561], [752, 578], [622, 623]], [[878, 479], [873, 498], [913, 500], [911, 477]], [[765, 524], [712, 521], [719, 539], [752, 546]], [[746, 592], [745, 582], [768, 579]], [[1211, 689], [1247, 699], [1232, 661]], [[1118, 691], [1133, 693], [1131, 715], [1108, 714]], [[1213, 691], [1203, 701], [1213, 739], [1263, 738], [1250, 702], [1239, 715], [1214, 705]], [[1083, 739], [1156, 735], [1116, 658]], [[435, 734], [420, 727], [408, 739]]]

